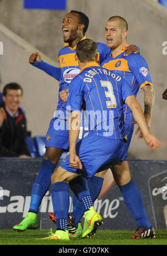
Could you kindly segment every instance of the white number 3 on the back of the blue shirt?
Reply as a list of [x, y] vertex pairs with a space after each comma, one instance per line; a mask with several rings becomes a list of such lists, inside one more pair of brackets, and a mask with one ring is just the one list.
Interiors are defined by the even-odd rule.
[[116, 108], [116, 99], [113, 92], [113, 87], [110, 81], [100, 81], [102, 87], [107, 87], [108, 91], [105, 91], [105, 95], [110, 100], [106, 101], [107, 108]]

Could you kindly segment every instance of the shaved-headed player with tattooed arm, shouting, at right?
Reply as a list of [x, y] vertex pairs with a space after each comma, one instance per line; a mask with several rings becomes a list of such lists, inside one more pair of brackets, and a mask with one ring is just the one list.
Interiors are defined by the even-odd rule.
[[[144, 57], [139, 54], [125, 56], [127, 43], [128, 25], [124, 18], [112, 16], [105, 26], [106, 45], [112, 50], [110, 57], [102, 62], [101, 66], [120, 74], [129, 83], [132, 93], [137, 96], [139, 88], [144, 91], [144, 114], [148, 127], [150, 127], [151, 115], [154, 105], [155, 91], [151, 81], [148, 64]], [[132, 181], [127, 151], [134, 131], [134, 117], [127, 105], [124, 105], [124, 119], [127, 134], [126, 157], [121, 166], [114, 166], [112, 173], [119, 185], [124, 202], [137, 222], [137, 229], [132, 238], [154, 237], [155, 232], [151, 227], [148, 216], [144, 210], [143, 201], [139, 190]], [[135, 134], [143, 138], [140, 128]]]

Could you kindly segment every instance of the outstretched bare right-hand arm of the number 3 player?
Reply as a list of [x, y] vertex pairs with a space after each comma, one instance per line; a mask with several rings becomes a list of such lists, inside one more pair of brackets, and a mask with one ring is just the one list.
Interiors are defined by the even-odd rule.
[[137, 102], [135, 96], [128, 96], [125, 100], [125, 103], [129, 106], [132, 111], [132, 114], [139, 125], [141, 132], [143, 133], [143, 138], [145, 139], [146, 144], [154, 150], [157, 150], [161, 146], [161, 142], [153, 134], [151, 134], [148, 124], [146, 122], [143, 110], [140, 107], [140, 104]]

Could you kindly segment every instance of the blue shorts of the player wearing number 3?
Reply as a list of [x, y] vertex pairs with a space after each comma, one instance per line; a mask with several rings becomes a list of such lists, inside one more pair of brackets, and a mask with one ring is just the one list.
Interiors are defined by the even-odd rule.
[[126, 143], [120, 139], [111, 139], [88, 134], [76, 144], [76, 154], [82, 163], [82, 170], [70, 167], [69, 153], [63, 158], [60, 166], [73, 173], [82, 174], [91, 178], [96, 172], [101, 172], [124, 161]]

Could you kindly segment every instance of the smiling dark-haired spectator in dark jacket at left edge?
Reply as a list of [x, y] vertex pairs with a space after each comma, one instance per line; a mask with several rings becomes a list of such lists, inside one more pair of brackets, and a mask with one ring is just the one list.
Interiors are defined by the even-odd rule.
[[3, 88], [0, 103], [0, 157], [30, 157], [26, 117], [20, 108], [23, 90], [17, 83]]

